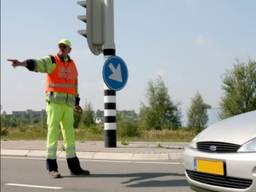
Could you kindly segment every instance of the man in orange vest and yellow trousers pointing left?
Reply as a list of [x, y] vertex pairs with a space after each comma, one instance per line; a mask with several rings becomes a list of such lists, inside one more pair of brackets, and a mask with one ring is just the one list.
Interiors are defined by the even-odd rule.
[[75, 151], [75, 133], [73, 128], [75, 110], [80, 110], [78, 96], [78, 72], [74, 61], [69, 57], [71, 42], [62, 39], [58, 42], [57, 55], [46, 56], [42, 59], [28, 59], [18, 61], [8, 59], [12, 66], [26, 67], [30, 71], [47, 73], [46, 101], [47, 101], [47, 169], [53, 178], [60, 178], [57, 165], [58, 129], [65, 143], [67, 164], [73, 175], [89, 175], [83, 170]]

